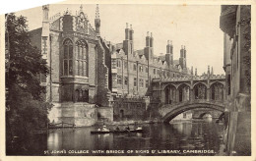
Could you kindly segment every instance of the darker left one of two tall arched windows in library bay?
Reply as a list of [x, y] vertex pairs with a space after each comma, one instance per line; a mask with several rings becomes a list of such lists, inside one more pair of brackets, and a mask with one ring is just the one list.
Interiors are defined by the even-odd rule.
[[64, 41], [63, 75], [73, 75], [73, 43], [70, 39]]

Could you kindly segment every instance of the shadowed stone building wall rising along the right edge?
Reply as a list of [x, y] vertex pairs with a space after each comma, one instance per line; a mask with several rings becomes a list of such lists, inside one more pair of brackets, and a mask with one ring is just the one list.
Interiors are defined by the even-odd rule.
[[222, 6], [228, 155], [251, 155], [251, 6]]

